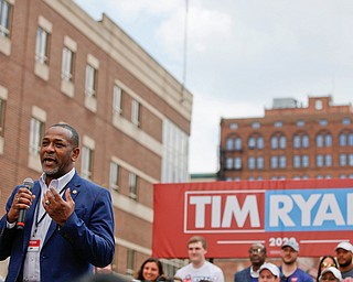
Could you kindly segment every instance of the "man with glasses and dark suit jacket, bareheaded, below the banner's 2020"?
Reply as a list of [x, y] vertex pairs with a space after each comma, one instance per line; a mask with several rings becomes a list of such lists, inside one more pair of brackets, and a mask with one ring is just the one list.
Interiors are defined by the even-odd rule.
[[259, 269], [266, 259], [266, 247], [260, 242], [255, 242], [249, 248], [249, 260], [252, 265], [234, 274], [234, 282], [256, 282], [258, 281]]

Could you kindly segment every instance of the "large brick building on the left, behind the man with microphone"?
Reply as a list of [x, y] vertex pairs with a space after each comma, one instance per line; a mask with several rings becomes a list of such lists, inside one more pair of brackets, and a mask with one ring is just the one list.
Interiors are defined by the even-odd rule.
[[105, 14], [0, 0], [2, 214], [13, 187], [40, 176], [45, 129], [67, 122], [82, 140], [76, 170], [111, 192], [113, 269], [133, 274], [151, 254], [153, 183], [189, 180], [191, 109], [192, 95]]

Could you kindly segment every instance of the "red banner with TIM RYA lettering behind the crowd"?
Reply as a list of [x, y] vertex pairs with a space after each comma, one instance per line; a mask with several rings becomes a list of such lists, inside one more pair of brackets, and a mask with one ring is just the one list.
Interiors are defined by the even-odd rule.
[[353, 180], [242, 181], [154, 185], [153, 256], [186, 258], [206, 238], [208, 258], [247, 258], [253, 242], [278, 257], [296, 240], [301, 257], [334, 254], [353, 238]]

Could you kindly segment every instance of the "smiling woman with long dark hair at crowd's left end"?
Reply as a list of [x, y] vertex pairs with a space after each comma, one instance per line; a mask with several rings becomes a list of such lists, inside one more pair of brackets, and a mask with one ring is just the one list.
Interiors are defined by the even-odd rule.
[[141, 264], [138, 273], [137, 280], [139, 281], [162, 281], [164, 275], [162, 262], [157, 258], [149, 258]]

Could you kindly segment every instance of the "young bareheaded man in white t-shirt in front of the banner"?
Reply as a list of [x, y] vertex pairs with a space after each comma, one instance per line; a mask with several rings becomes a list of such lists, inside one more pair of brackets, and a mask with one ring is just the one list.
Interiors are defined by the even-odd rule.
[[224, 282], [223, 271], [205, 259], [207, 243], [202, 236], [189, 239], [188, 253], [191, 263], [178, 270], [176, 278], [181, 278], [183, 282]]

